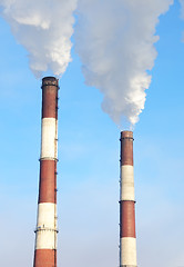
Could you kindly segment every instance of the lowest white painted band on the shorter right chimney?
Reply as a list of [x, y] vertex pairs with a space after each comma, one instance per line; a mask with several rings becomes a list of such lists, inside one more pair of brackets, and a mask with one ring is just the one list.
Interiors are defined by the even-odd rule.
[[136, 238], [121, 238], [121, 266], [136, 266]]

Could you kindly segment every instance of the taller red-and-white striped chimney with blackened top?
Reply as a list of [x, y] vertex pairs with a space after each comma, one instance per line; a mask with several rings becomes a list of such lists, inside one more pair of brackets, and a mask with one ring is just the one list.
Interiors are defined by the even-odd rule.
[[40, 185], [33, 267], [57, 267], [58, 83], [54, 77], [42, 79]]

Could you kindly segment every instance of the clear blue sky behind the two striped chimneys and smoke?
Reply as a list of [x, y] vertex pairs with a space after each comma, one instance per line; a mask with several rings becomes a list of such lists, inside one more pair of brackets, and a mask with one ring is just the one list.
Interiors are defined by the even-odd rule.
[[[145, 109], [134, 129], [139, 266], [184, 266], [184, 22], [180, 4], [157, 26]], [[0, 18], [1, 257], [32, 266], [39, 179], [41, 80]], [[59, 267], [117, 266], [120, 129], [73, 61], [60, 80]]]

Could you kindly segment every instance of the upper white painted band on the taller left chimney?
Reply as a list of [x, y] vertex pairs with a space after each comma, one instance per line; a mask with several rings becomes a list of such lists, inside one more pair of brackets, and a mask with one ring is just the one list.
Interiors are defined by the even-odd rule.
[[58, 157], [58, 121], [54, 118], [42, 119], [41, 158]]

